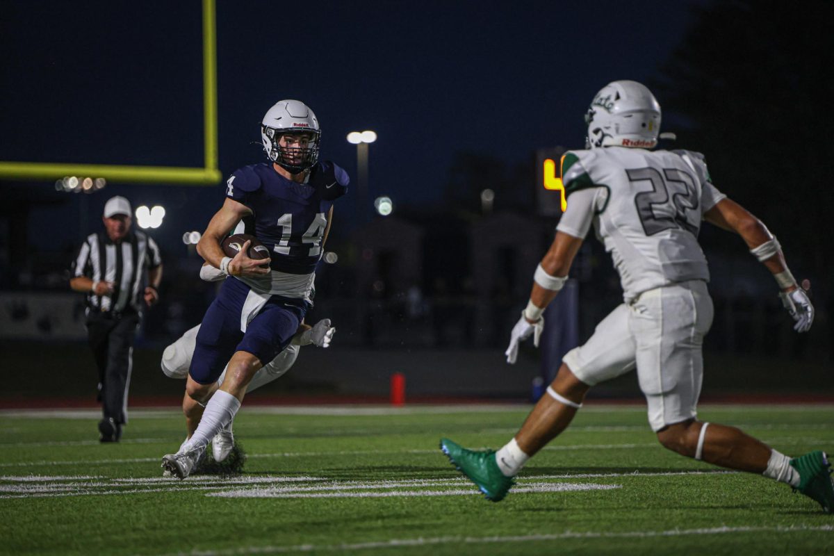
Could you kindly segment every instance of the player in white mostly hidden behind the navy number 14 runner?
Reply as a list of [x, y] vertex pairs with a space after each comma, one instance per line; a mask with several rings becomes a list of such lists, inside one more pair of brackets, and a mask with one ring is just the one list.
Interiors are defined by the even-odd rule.
[[[217, 282], [226, 278], [226, 275], [210, 264], [203, 263], [203, 267], [200, 268], [200, 278], [206, 282]], [[191, 367], [191, 359], [194, 355], [199, 329], [199, 324], [193, 328], [189, 328], [182, 336], [177, 338], [176, 342], [170, 344], [163, 351], [160, 366], [168, 378], [188, 377], [188, 368]], [[252, 392], [254, 389], [264, 386], [264, 384], [271, 383], [289, 371], [295, 363], [295, 359], [299, 357], [299, 348], [301, 346], [312, 344], [319, 348], [329, 347], [334, 333], [336, 333], [336, 328], [330, 326], [329, 318], [319, 320], [312, 327], [309, 324], [302, 323], [299, 326], [298, 332], [295, 333], [295, 336], [289, 343], [289, 346], [284, 348], [284, 351], [279, 353], [278, 356], [262, 368], [259, 368], [258, 372], [254, 374], [254, 377], [246, 388], [246, 392]], [[224, 368], [223, 373], [218, 378], [214, 388], [212, 388], [213, 390], [217, 389], [223, 383], [227, 370], [228, 368]], [[185, 414], [186, 428], [188, 428], [188, 435], [183, 444], [188, 442], [188, 439], [197, 430], [200, 418], [203, 416], [204, 408], [204, 404], [201, 405], [196, 400], [190, 398], [188, 394], [183, 397], [183, 413]], [[233, 423], [234, 418], [228, 425], [220, 428], [219, 432], [212, 438], [212, 456], [216, 462], [223, 462], [229, 457], [229, 453], [232, 453], [232, 449], [234, 448]]]

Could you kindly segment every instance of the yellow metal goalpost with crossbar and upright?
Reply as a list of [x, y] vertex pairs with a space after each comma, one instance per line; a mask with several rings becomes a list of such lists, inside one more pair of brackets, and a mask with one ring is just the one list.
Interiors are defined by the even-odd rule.
[[118, 183], [219, 183], [222, 176], [218, 168], [217, 148], [217, 33], [214, 2], [203, 0], [203, 168], [0, 161], [0, 179], [56, 180], [65, 176], [89, 176]]

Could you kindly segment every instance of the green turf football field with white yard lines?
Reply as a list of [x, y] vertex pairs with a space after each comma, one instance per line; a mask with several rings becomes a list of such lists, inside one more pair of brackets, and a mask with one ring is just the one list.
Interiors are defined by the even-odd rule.
[[[175, 411], [0, 413], [0, 553], [822, 554], [834, 515], [771, 480], [656, 442], [642, 406], [591, 405], [490, 503], [437, 448], [497, 448], [520, 406], [246, 407], [234, 478], [163, 478]], [[790, 455], [834, 451], [834, 406], [706, 406]]]

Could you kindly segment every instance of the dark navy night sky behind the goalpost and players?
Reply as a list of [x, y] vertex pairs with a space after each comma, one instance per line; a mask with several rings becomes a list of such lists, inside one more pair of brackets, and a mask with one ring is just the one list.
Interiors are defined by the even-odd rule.
[[[456, 152], [512, 164], [537, 148], [581, 147], [590, 98], [615, 79], [657, 77], [691, 5], [220, 0], [221, 171], [264, 161], [261, 118], [279, 99], [298, 98], [319, 117], [323, 158], [354, 182], [355, 148], [345, 135], [379, 134], [370, 146], [371, 198], [438, 207]], [[202, 166], [198, 0], [2, 7], [0, 159]], [[57, 194], [52, 182], [28, 185]], [[173, 255], [185, 253], [182, 233], [202, 230], [223, 198], [219, 186], [61, 193], [68, 203], [33, 213], [31, 241], [47, 248], [55, 236], [43, 229], [58, 226], [74, 243], [97, 229], [114, 194], [165, 206], [153, 235]], [[353, 226], [354, 203], [355, 195], [336, 207], [334, 234]]]

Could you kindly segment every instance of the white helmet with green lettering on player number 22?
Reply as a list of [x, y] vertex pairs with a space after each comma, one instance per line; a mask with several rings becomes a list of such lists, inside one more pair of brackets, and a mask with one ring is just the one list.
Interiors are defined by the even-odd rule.
[[614, 81], [596, 93], [585, 123], [585, 148], [654, 148], [661, 131], [661, 105], [645, 85]]

